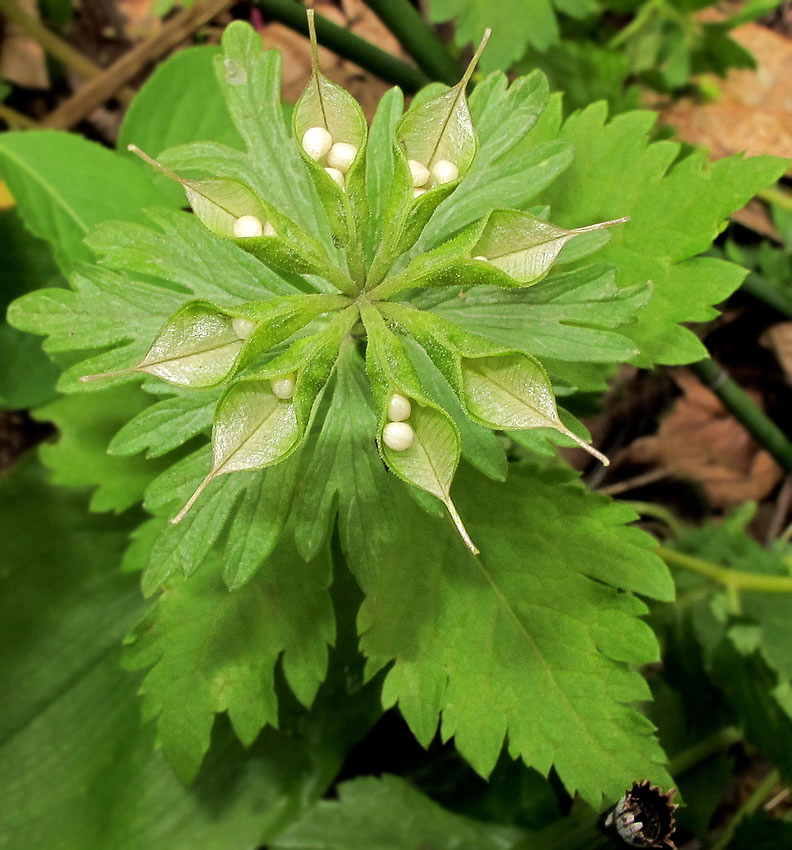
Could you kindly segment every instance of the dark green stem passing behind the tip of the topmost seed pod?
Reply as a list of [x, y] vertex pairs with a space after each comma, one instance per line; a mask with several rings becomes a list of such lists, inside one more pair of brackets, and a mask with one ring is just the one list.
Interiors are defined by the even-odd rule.
[[[295, 0], [256, 0], [256, 5], [269, 17], [287, 27], [308, 34], [305, 6]], [[415, 92], [429, 82], [423, 71], [413, 68], [401, 59], [375, 47], [349, 30], [339, 27], [321, 15], [316, 16], [316, 35], [319, 43], [349, 59], [361, 68], [371, 71], [389, 83], [395, 83], [405, 92]]]

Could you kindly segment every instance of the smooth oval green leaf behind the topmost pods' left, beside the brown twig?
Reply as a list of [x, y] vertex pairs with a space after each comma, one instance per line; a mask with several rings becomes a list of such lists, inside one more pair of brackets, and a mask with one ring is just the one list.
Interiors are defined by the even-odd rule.
[[188, 47], [157, 65], [124, 115], [118, 150], [135, 144], [159, 156], [201, 140], [241, 148], [214, 70], [219, 53], [215, 46]]

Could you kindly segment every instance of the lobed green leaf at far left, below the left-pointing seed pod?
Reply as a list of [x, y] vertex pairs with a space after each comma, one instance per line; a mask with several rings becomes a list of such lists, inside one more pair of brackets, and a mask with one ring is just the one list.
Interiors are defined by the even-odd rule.
[[135, 386], [111, 387], [86, 397], [64, 396], [36, 411], [52, 422], [57, 442], [40, 449], [55, 484], [96, 487], [92, 511], [124, 511], [142, 501], [148, 483], [168, 466], [165, 460], [112, 457], [107, 445], [130, 416], [143, 410], [149, 397]]

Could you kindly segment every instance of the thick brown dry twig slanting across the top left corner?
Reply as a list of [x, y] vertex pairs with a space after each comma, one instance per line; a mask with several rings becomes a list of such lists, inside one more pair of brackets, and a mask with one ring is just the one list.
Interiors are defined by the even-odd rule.
[[62, 103], [43, 122], [46, 127], [67, 130], [112, 97], [121, 86], [134, 77], [149, 62], [159, 59], [180, 41], [211, 20], [231, 4], [231, 0], [198, 0], [171, 18], [151, 38], [133, 47], [107, 68], [100, 77], [87, 82]]

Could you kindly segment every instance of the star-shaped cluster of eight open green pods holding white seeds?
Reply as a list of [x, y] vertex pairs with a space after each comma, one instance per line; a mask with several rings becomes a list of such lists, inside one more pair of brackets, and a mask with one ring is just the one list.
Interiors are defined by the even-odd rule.
[[[308, 13], [313, 73], [292, 113], [289, 144], [299, 151], [331, 239], [311, 232], [243, 176], [192, 178], [131, 149], [183, 188], [209, 233], [229, 240], [307, 291], [233, 305], [184, 303], [145, 356], [83, 381], [146, 373], [196, 390], [222, 388], [212, 426], [212, 463], [172, 518], [178, 523], [219, 476], [286, 460], [304, 442], [340, 346], [365, 346], [377, 412], [376, 440], [388, 469], [440, 499], [476, 552], [451, 500], [460, 432], [416, 371], [417, 344], [450, 384], [470, 420], [495, 430], [554, 429], [607, 459], [565, 424], [547, 372], [531, 354], [506, 348], [421, 308], [427, 291], [522, 290], [539, 283], [578, 235], [626, 219], [569, 230], [539, 214], [489, 209], [434, 241], [428, 225], [464, 193], [478, 140], [467, 88], [486, 37], [459, 83], [429, 87], [369, 147], [354, 98], [319, 69]], [[243, 26], [243, 25], [239, 25]], [[226, 59], [229, 86], [243, 88]], [[375, 129], [372, 128], [372, 134]], [[258, 152], [266, 161], [266, 151]]]

